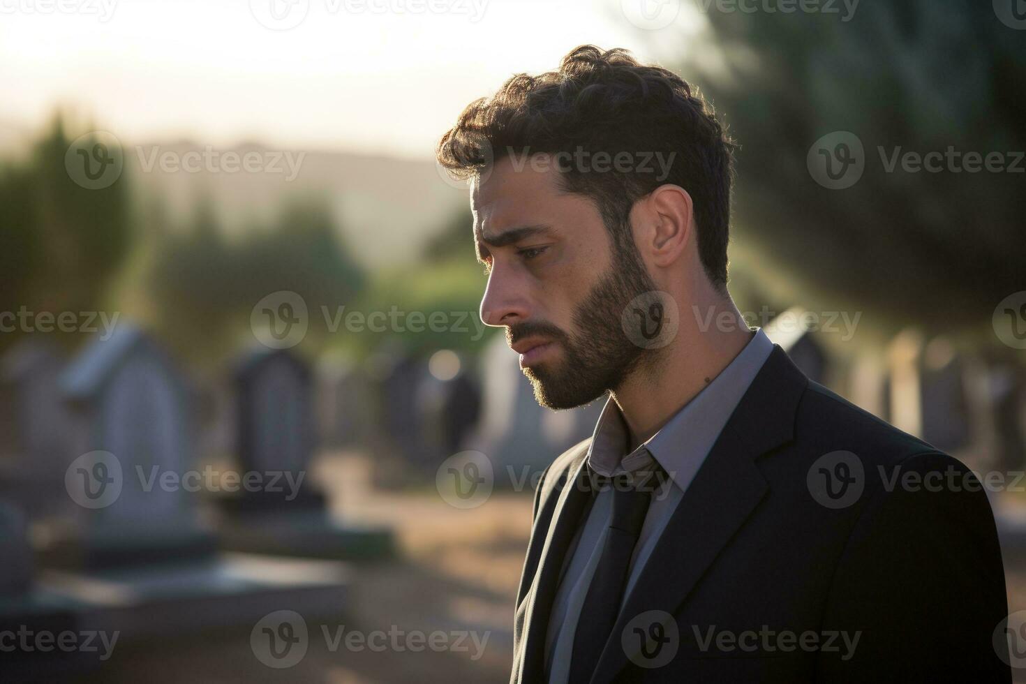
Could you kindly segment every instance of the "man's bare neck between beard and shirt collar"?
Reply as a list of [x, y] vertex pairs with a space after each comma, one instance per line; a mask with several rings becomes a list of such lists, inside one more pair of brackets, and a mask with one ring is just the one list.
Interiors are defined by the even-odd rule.
[[689, 304], [679, 313], [676, 338], [661, 350], [648, 352], [652, 358], [643, 359], [610, 393], [630, 431], [630, 450], [659, 432], [752, 339], [752, 332], [728, 295]]

